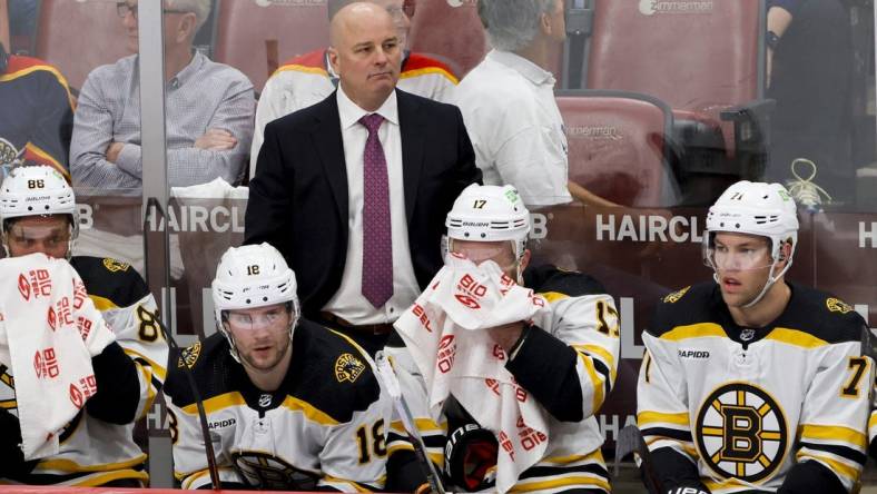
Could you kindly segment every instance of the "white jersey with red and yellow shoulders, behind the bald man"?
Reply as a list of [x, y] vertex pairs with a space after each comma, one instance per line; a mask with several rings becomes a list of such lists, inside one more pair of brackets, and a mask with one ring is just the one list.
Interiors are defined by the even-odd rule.
[[[435, 101], [450, 102], [457, 82], [451, 69], [438, 60], [408, 53], [402, 62], [396, 87]], [[324, 49], [288, 60], [268, 78], [256, 107], [256, 129], [249, 157], [250, 176], [256, 172], [259, 149], [265, 141], [265, 126], [323, 101], [335, 91], [336, 83], [329, 75]]]

